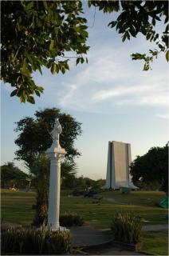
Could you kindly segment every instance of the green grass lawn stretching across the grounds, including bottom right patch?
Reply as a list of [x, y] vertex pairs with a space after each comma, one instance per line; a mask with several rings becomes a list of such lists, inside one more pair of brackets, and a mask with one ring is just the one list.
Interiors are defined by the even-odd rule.
[[[61, 214], [70, 212], [79, 214], [85, 219], [85, 225], [96, 229], [108, 228], [111, 216], [115, 211], [132, 211], [144, 218], [148, 224], [167, 224], [167, 210], [160, 208], [158, 203], [163, 198], [163, 192], [132, 191], [130, 194], [120, 194], [120, 191], [106, 191], [103, 198], [113, 198], [114, 202], [103, 200], [97, 204], [92, 198], [69, 196], [69, 191], [61, 191]], [[12, 192], [1, 190], [2, 222], [30, 225], [33, 220], [35, 202], [34, 192]], [[143, 250], [145, 254], [167, 255], [167, 230], [143, 231]]]

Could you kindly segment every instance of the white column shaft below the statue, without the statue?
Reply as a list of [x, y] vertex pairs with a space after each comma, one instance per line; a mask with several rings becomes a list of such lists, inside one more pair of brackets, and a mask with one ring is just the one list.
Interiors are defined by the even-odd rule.
[[61, 187], [61, 154], [51, 153], [50, 158], [50, 179], [49, 179], [49, 211], [48, 226], [52, 230], [58, 230], [60, 213], [60, 187]]

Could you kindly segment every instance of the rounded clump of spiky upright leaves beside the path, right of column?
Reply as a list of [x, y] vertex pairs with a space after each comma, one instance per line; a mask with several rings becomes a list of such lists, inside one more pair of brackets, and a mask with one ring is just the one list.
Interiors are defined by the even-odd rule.
[[142, 219], [132, 213], [118, 212], [112, 218], [111, 229], [116, 241], [137, 244], [143, 226]]

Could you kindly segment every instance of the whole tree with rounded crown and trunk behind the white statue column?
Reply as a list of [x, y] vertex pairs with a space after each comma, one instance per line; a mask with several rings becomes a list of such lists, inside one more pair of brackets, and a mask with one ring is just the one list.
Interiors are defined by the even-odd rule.
[[15, 154], [18, 160], [26, 162], [30, 173], [33, 174], [33, 182], [37, 190], [33, 225], [37, 226], [47, 220], [49, 158], [46, 158], [45, 150], [52, 144], [50, 132], [53, 130], [54, 119], [59, 118], [61, 122], [60, 144], [67, 152], [64, 162], [61, 163], [61, 178], [65, 183], [75, 178], [74, 158], [80, 153], [73, 143], [77, 136], [81, 135], [81, 123], [71, 115], [61, 113], [57, 108], [36, 111], [34, 116], [17, 122], [16, 131], [19, 134], [15, 143], [19, 150]]

